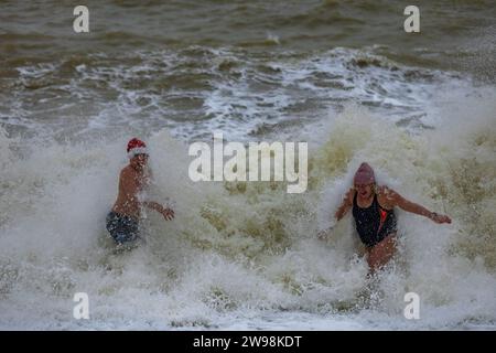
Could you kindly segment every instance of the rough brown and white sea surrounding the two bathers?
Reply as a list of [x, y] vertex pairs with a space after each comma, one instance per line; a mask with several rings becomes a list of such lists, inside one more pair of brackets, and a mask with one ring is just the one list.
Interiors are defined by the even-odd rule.
[[[495, 330], [496, 6], [416, 1], [0, 1], [1, 330]], [[308, 141], [309, 189], [193, 183], [193, 141]], [[164, 222], [105, 229], [131, 137]], [[373, 280], [357, 167], [453, 218], [397, 211]], [[76, 320], [76, 292], [89, 320]], [[408, 320], [407, 292], [420, 298]]]

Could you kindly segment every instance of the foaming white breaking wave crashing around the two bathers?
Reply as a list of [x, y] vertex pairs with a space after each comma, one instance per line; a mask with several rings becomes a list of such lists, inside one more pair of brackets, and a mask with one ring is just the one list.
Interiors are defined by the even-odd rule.
[[[148, 214], [147, 243], [122, 254], [105, 215], [127, 138], [42, 143], [2, 132], [0, 327], [494, 328], [494, 101], [490, 90], [452, 96], [435, 110], [436, 129], [417, 133], [354, 105], [332, 114], [303, 195], [270, 183], [194, 184], [186, 146], [161, 130], [147, 139], [150, 194], [170, 197], [176, 218]], [[380, 183], [454, 220], [441, 226], [398, 211], [399, 256], [368, 304], [351, 217], [327, 242], [315, 238], [363, 160]], [[72, 317], [77, 291], [89, 296], [89, 321]], [[420, 320], [402, 315], [408, 291], [421, 298]]]

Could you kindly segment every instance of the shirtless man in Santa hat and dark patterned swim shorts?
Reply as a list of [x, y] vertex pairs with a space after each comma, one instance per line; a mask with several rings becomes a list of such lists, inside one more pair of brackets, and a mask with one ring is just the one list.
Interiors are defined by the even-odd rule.
[[139, 221], [143, 207], [154, 210], [166, 221], [174, 217], [174, 211], [153, 201], [141, 201], [150, 184], [147, 145], [133, 138], [128, 143], [129, 164], [119, 176], [119, 192], [112, 210], [107, 215], [107, 231], [118, 245], [139, 237]]

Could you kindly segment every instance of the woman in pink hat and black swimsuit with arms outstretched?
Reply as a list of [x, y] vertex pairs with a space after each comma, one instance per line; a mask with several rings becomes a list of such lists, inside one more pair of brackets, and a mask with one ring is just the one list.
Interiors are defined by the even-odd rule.
[[[378, 186], [373, 168], [362, 163], [354, 176], [354, 186], [346, 193], [335, 217], [342, 220], [352, 208], [356, 231], [366, 248], [370, 274], [386, 265], [396, 253], [397, 221], [395, 206], [442, 224], [451, 218], [431, 212], [402, 197], [385, 185]], [[330, 229], [319, 233], [325, 238]]]

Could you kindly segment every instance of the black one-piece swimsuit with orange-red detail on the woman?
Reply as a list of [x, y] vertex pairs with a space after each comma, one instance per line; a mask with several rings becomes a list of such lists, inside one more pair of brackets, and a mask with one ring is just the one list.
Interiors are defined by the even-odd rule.
[[382, 208], [377, 201], [377, 195], [374, 195], [373, 203], [366, 208], [358, 206], [356, 197], [357, 194], [355, 193], [353, 217], [355, 218], [356, 231], [365, 246], [373, 247], [397, 231], [395, 212]]

